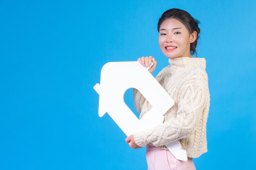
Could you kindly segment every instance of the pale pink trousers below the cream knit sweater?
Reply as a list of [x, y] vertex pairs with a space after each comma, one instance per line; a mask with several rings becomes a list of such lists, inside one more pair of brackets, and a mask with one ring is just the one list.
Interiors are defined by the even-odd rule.
[[146, 159], [148, 170], [195, 170], [192, 158], [177, 160], [169, 150], [147, 145]]

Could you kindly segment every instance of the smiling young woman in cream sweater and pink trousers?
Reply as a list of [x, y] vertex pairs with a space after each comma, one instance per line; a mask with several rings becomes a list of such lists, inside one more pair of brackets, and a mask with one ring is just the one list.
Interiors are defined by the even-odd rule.
[[[175, 104], [164, 114], [162, 125], [136, 132], [126, 138], [131, 148], [146, 146], [148, 170], [195, 170], [193, 158], [207, 152], [206, 123], [209, 113], [210, 94], [204, 58], [195, 58], [199, 21], [181, 9], [169, 9], [159, 18], [159, 46], [170, 65], [155, 77], [174, 99]], [[154, 57], [140, 57], [143, 66], [153, 62], [148, 70], [152, 73], [157, 65]], [[152, 107], [134, 88], [134, 103], [141, 113], [140, 119]], [[187, 152], [187, 161], [177, 160], [166, 144], [179, 141]]]

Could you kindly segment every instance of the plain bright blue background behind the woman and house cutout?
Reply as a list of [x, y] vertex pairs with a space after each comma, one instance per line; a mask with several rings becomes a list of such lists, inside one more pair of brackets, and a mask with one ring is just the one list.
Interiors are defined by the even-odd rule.
[[[208, 152], [197, 170], [252, 169], [256, 144], [256, 1], [0, 1], [0, 169], [146, 170], [93, 86], [107, 62], [152, 55], [157, 22], [180, 8], [200, 20], [207, 60]], [[132, 89], [125, 101], [134, 110]]]

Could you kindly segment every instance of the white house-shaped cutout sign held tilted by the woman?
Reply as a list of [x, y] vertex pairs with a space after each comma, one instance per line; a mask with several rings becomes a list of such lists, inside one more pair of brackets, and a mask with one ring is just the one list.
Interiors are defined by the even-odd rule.
[[[108, 112], [126, 136], [162, 124], [164, 113], [174, 104], [171, 96], [148, 72], [148, 68], [150, 66], [144, 67], [139, 62], [108, 62], [101, 69], [100, 84], [94, 86], [99, 94], [99, 116]], [[139, 90], [152, 105], [141, 119], [124, 102], [124, 94], [128, 88]], [[178, 141], [173, 141], [166, 147], [177, 159], [187, 160], [186, 150], [181, 149]]]

